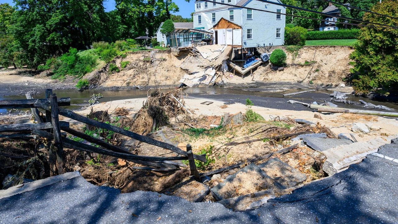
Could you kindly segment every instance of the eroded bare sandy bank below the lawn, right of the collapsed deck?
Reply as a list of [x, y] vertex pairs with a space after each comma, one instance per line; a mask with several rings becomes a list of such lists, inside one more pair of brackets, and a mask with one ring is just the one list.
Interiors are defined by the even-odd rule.
[[293, 62], [291, 53], [287, 53], [288, 66], [283, 71], [273, 71], [269, 63], [265, 63], [242, 79], [241, 76], [227, 75], [226, 83], [253, 83], [253, 82], [287, 82], [333, 84], [344, 83], [343, 79], [349, 75], [352, 68], [349, 65], [352, 47], [348, 46], [304, 46], [298, 52]]

